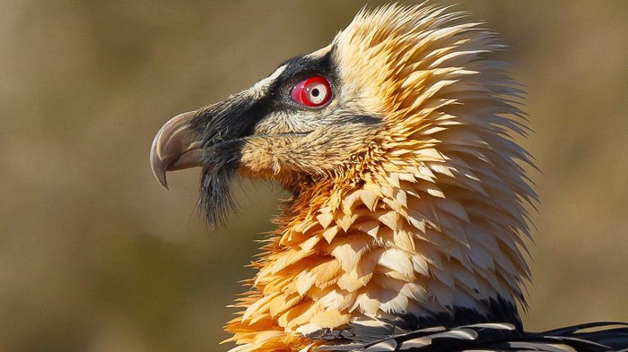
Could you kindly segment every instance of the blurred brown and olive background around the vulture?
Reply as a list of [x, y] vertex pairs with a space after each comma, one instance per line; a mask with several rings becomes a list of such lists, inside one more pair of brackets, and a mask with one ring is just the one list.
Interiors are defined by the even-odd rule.
[[[370, 1], [370, 4], [381, 4]], [[628, 321], [628, 2], [442, 1], [511, 46], [543, 174], [528, 330]], [[280, 187], [210, 233], [170, 116], [323, 47], [359, 1], [0, 0], [0, 351], [217, 351]]]

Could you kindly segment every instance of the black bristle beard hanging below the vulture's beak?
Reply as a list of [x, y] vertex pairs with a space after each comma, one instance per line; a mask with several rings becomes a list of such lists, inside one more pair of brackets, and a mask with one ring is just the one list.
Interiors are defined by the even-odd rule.
[[227, 141], [205, 150], [199, 213], [211, 230], [224, 225], [227, 214], [235, 209], [231, 185], [237, 175], [241, 141]]

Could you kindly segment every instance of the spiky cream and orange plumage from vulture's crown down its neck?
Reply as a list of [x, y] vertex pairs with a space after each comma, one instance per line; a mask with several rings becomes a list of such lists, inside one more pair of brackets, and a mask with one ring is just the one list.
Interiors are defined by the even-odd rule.
[[351, 167], [291, 181], [296, 198], [227, 326], [234, 350], [298, 350], [355, 322], [520, 327], [523, 204], [536, 197], [510, 136], [527, 132], [511, 100], [520, 91], [483, 56], [501, 48], [493, 36], [451, 24], [459, 17], [362, 12], [327, 48], [341, 98], [382, 123], [352, 150], [362, 158]]

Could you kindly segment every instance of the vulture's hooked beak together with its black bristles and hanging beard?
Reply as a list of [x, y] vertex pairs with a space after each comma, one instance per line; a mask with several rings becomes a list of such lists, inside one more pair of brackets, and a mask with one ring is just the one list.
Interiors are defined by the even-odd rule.
[[151, 146], [151, 167], [166, 189], [166, 172], [203, 167], [200, 207], [210, 227], [231, 209], [231, 181], [246, 137], [270, 111], [266, 98], [243, 91], [196, 111], [174, 116]]

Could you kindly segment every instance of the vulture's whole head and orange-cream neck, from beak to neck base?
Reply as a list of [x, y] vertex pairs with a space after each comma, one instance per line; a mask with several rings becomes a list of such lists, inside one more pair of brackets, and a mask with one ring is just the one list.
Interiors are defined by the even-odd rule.
[[210, 225], [235, 176], [292, 193], [227, 325], [234, 350], [359, 340], [364, 324], [520, 329], [536, 198], [512, 141], [528, 132], [522, 92], [491, 58], [502, 45], [462, 17], [362, 10], [327, 47], [161, 127], [154, 175], [201, 167]]

